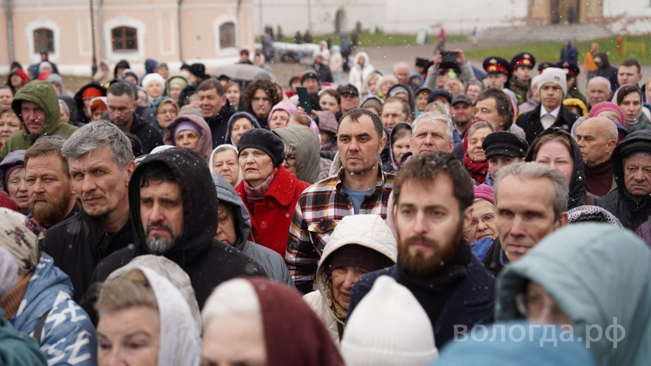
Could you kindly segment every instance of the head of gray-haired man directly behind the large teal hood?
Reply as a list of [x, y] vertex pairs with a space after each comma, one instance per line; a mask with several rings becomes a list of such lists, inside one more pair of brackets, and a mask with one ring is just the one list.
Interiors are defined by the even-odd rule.
[[547, 234], [568, 221], [569, 186], [561, 172], [540, 163], [514, 163], [495, 179], [497, 239], [482, 264], [495, 277]]

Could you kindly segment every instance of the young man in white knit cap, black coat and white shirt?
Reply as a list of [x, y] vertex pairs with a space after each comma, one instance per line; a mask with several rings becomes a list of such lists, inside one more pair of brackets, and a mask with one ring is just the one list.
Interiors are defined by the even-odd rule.
[[566, 73], [555, 67], [548, 67], [540, 74], [538, 95], [540, 104], [533, 111], [523, 113], [516, 124], [525, 130], [527, 143], [531, 145], [538, 135], [550, 127], [562, 127], [570, 132], [579, 116], [562, 104], [567, 94]]

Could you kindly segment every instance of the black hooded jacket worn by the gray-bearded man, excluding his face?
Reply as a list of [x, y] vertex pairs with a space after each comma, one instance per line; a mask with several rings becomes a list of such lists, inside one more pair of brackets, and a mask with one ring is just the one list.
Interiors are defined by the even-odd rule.
[[183, 268], [190, 277], [199, 307], [212, 290], [234, 277], [262, 275], [260, 266], [237, 249], [214, 240], [217, 232], [217, 191], [204, 159], [186, 148], [171, 148], [151, 154], [133, 172], [129, 182], [129, 202], [137, 245], [128, 246], [102, 260], [94, 279], [104, 281], [111, 272], [134, 257], [152, 254], [145, 246], [146, 234], [140, 217], [140, 180], [152, 163], [164, 163], [174, 175], [183, 200], [183, 234], [173, 247], [161, 253]]

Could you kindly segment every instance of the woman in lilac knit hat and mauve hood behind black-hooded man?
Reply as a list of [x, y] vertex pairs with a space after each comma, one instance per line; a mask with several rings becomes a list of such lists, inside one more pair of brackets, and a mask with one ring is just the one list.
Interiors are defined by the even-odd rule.
[[165, 145], [184, 147], [199, 152], [206, 162], [210, 160], [212, 150], [212, 134], [206, 120], [195, 115], [176, 117], [165, 128], [163, 134]]

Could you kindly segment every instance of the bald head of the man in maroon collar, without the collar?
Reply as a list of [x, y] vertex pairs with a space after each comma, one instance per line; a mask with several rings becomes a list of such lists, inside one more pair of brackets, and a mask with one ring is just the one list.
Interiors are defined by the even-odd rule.
[[611, 158], [617, 142], [615, 122], [605, 117], [592, 117], [574, 128], [585, 165], [594, 167]]

